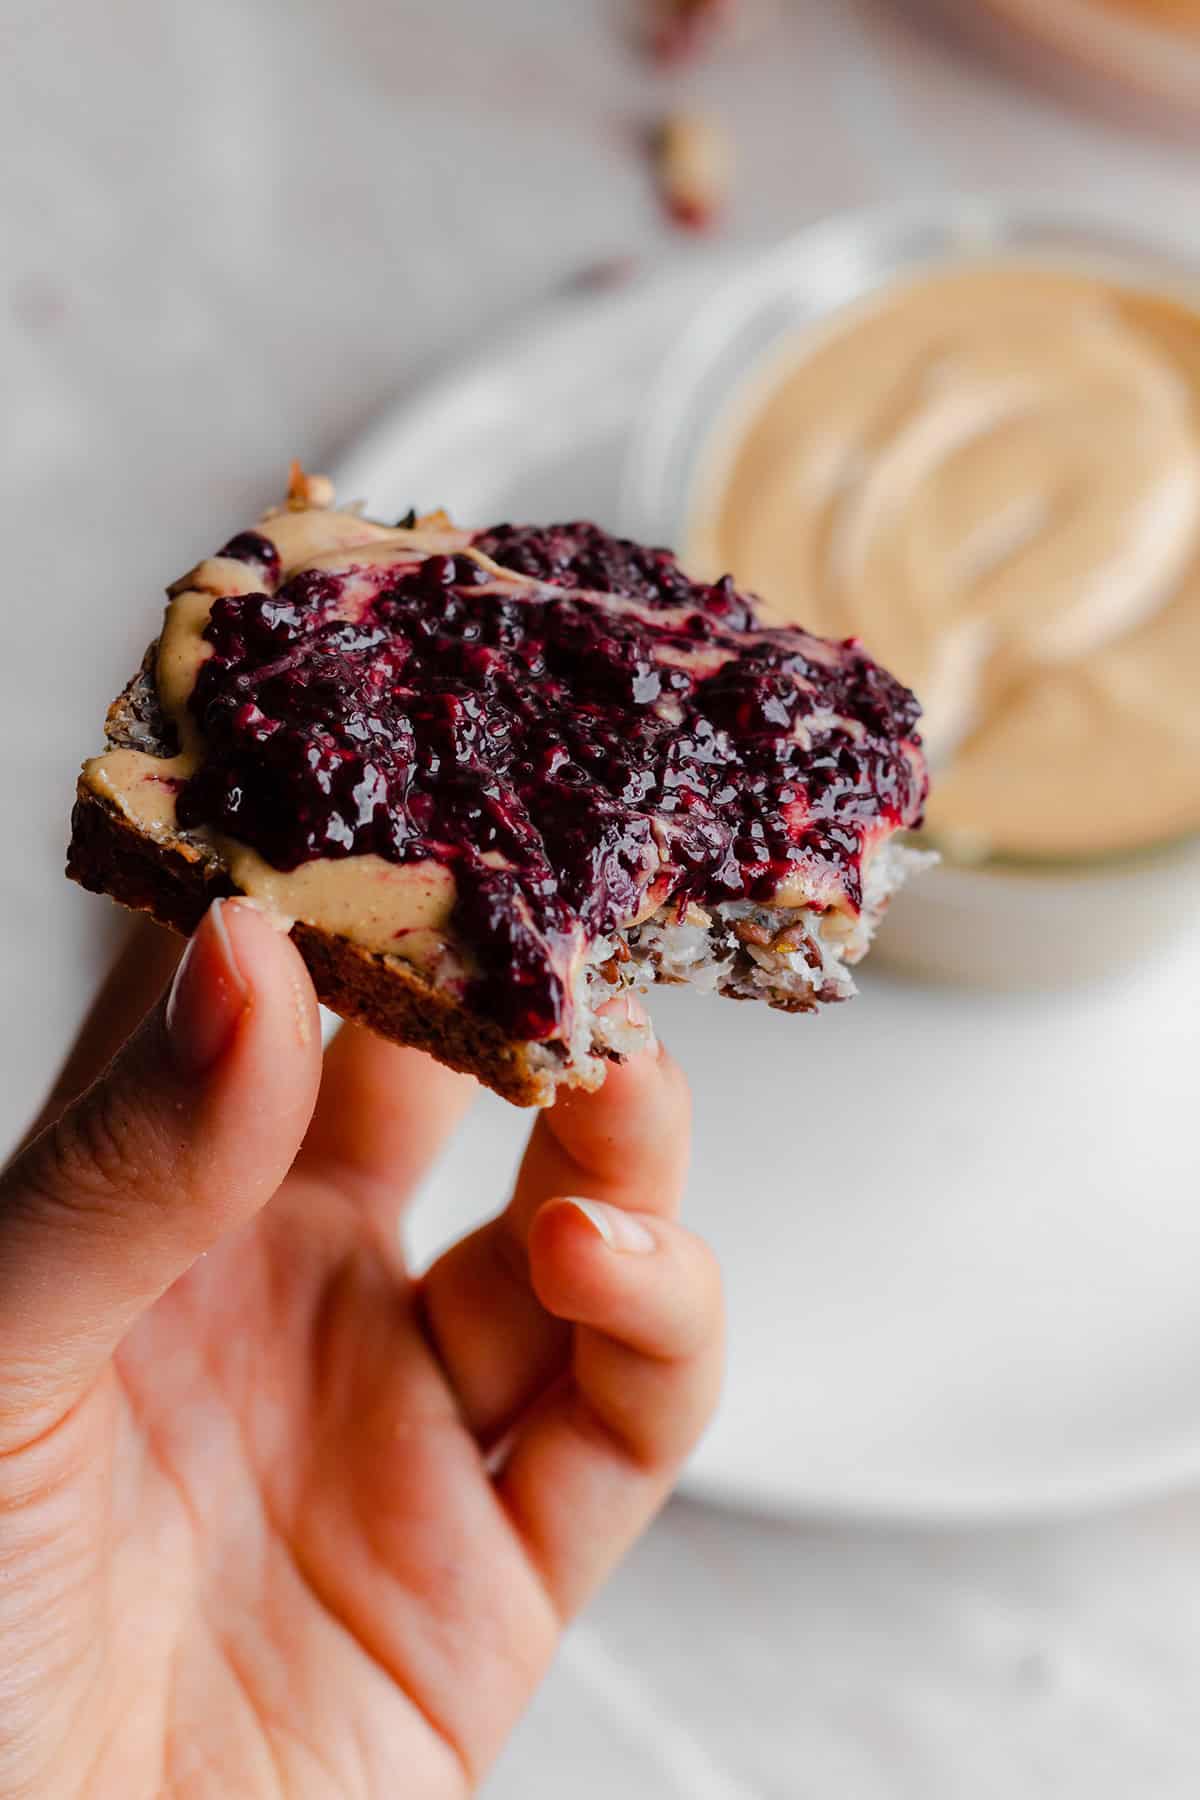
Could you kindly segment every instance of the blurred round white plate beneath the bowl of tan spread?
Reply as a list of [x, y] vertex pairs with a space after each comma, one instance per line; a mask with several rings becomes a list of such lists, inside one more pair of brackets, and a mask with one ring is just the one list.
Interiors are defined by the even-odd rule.
[[[617, 522], [649, 376], [714, 279], [574, 301], [398, 407], [344, 495]], [[1200, 938], [1079, 994], [867, 972], [817, 1019], [655, 997], [696, 1091], [691, 1222], [730, 1303], [693, 1494], [783, 1512], [1036, 1516], [1200, 1478]], [[527, 1118], [486, 1096], [414, 1220], [498, 1197]]]

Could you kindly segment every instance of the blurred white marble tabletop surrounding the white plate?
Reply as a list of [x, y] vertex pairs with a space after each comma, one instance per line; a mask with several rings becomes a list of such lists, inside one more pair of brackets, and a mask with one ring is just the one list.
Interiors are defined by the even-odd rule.
[[[621, 0], [7, 0], [0, 14], [0, 1129], [106, 950], [59, 878], [99, 713], [166, 578], [585, 265], [689, 254], [640, 122], [718, 108], [730, 232], [910, 187], [1132, 185], [1195, 157], [1024, 92], [914, 5], [777, 0], [662, 85]], [[1200, 1278], [1196, 1283], [1200, 1303]], [[1200, 1379], [1200, 1372], [1198, 1372]], [[1182, 1800], [1200, 1498], [919, 1534], [678, 1505], [569, 1642], [491, 1800]]]

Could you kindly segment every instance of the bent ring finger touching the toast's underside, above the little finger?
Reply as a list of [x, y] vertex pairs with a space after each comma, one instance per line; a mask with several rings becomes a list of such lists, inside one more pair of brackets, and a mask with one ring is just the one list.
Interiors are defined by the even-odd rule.
[[687, 1174], [687, 1084], [660, 1048], [613, 1067], [594, 1094], [563, 1094], [533, 1130], [506, 1211], [428, 1271], [426, 1328], [482, 1442], [502, 1436], [567, 1357], [567, 1327], [529, 1285], [533, 1215], [556, 1193], [675, 1213]]

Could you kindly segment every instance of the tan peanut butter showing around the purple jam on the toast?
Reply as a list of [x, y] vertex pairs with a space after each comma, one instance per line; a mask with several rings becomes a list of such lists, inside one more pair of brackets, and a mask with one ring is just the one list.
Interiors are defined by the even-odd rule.
[[[444, 515], [430, 515], [412, 527], [385, 527], [360, 518], [353, 509], [335, 509], [333, 490], [320, 477], [309, 479], [297, 473], [288, 506], [266, 513], [254, 531], [275, 545], [281, 583], [300, 571], [336, 572], [336, 601], [331, 605], [335, 605], [336, 616], [347, 621], [363, 617], [390, 569], [430, 554], [461, 554], [477, 563], [482, 576], [473, 585], [475, 594], [529, 599], [531, 590], [536, 590], [538, 585], [529, 576], [515, 574], [475, 549], [471, 533], [457, 531]], [[157, 646], [155, 686], [162, 709], [178, 736], [178, 754], [166, 758], [122, 747], [92, 758], [85, 765], [85, 781], [140, 832], [158, 842], [171, 842], [176, 837], [178, 794], [205, 756], [205, 743], [191, 700], [203, 662], [212, 653], [205, 639], [212, 607], [225, 596], [264, 592], [264, 580], [259, 572], [263, 567], [261, 558], [254, 563], [236, 556], [212, 556], [171, 589]], [[592, 596], [592, 599], [603, 603], [610, 616], [639, 617], [657, 632], [675, 626], [684, 634], [694, 617], [691, 601], [664, 607], [651, 605], [642, 598], [608, 592]], [[766, 634], [759, 626], [739, 626], [736, 637], [745, 646], [766, 641]], [[792, 675], [790, 679], [799, 689], [813, 695], [817, 689], [815, 664], [828, 662], [831, 670], [840, 670], [847, 659], [837, 646], [819, 639], [802, 637], [802, 643], [808, 675]], [[680, 644], [664, 639], [657, 641], [653, 653], [664, 666], [682, 668], [694, 679], [709, 679], [729, 659], [734, 659], [738, 650], [730, 643], [696, 639], [696, 643]], [[829, 688], [829, 695], [837, 697], [837, 684]], [[649, 704], [660, 718], [671, 724], [678, 724], [684, 716], [671, 689], [658, 693]], [[808, 751], [813, 733], [824, 733], [829, 727], [842, 729], [849, 740], [860, 740], [869, 733], [869, 725], [858, 716], [855, 706], [849, 707], [847, 716], [842, 716], [829, 711], [828, 702], [817, 698], [811, 704], [797, 706], [790, 733], [795, 743]], [[919, 752], [905, 738], [896, 745], [896, 760], [907, 763], [907, 769], [905, 779], [901, 779], [900, 770], [894, 774], [891, 792], [896, 796], [896, 806], [907, 808], [905, 815], [916, 817], [923, 790]], [[790, 796], [790, 801], [795, 801], [795, 794]], [[896, 814], [887, 812], [883, 805], [876, 812], [874, 823], [862, 823], [858, 841], [869, 896], [880, 893], [880, 882], [869, 873], [869, 864], [878, 844], [892, 833], [896, 821]], [[664, 808], [655, 817], [653, 839], [644, 850], [646, 884], [633, 909], [619, 920], [622, 929], [649, 920], [673, 895], [673, 882], [657, 878], [655, 871], [662, 864], [669, 866], [673, 839], [685, 826], [685, 814], [675, 810]], [[297, 868], [279, 869], [255, 850], [214, 828], [193, 828], [187, 837], [219, 859], [239, 891], [288, 922], [302, 920], [331, 934], [349, 938], [372, 952], [401, 958], [443, 986], [453, 988], [477, 974], [471, 947], [462, 945], [452, 929], [457, 887], [453, 869], [448, 864], [435, 860], [394, 864], [378, 855], [353, 853], [336, 859], [317, 857]], [[493, 860], [495, 855], [489, 851], [484, 860]], [[520, 898], [516, 904], [527, 905]], [[831, 914], [828, 941], [851, 945], [853, 940], [856, 945], [862, 940], [865, 947], [856, 902], [851, 902], [847, 895], [846, 864], [838, 857], [790, 862], [779, 877], [772, 904], [788, 909], [828, 909]], [[878, 898], [871, 902], [876, 911], [878, 904], [882, 904]], [[707, 929], [711, 918], [702, 907], [691, 904], [685, 909], [685, 922]], [[567, 994], [574, 992], [581, 959], [594, 949], [603, 950], [603, 941], [588, 945], [581, 927], [570, 943], [547, 947], [545, 954], [552, 954], [563, 963]]]

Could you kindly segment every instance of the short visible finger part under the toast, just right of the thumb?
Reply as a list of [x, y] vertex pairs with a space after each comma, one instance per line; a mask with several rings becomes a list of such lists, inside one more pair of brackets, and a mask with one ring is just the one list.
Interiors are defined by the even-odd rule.
[[479, 1093], [466, 1075], [344, 1024], [297, 1163], [345, 1193], [394, 1246], [399, 1210]]

